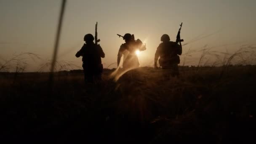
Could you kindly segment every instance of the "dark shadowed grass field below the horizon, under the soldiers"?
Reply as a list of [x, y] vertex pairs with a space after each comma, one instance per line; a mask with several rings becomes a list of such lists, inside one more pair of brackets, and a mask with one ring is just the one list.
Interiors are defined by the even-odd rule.
[[256, 67], [141, 67], [84, 84], [83, 72], [0, 73], [0, 137], [8, 141], [248, 143]]

